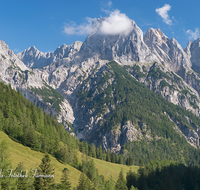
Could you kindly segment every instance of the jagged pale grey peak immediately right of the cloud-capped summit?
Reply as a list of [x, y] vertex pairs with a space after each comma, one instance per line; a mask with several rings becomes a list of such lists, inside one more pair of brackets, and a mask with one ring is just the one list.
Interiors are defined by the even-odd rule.
[[190, 59], [181, 45], [174, 38], [165, 36], [160, 29], [148, 29], [144, 42], [158, 57], [159, 62], [173, 71], [178, 73], [183, 67], [191, 68]]

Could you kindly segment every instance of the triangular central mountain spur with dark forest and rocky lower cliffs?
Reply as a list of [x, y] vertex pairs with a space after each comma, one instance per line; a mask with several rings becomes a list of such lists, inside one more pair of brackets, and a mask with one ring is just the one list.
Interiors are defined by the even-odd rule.
[[116, 62], [83, 81], [77, 98], [77, 115], [84, 123], [77, 123], [79, 138], [112, 152], [128, 151], [137, 164], [148, 157], [194, 161], [190, 155], [196, 150], [187, 141], [199, 146], [199, 118], [149, 90]]

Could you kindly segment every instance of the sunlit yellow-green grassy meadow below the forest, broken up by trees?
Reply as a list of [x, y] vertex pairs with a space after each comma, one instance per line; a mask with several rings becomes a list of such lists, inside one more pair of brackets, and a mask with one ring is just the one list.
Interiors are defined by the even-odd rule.
[[[44, 153], [31, 150], [29, 147], [25, 147], [20, 143], [14, 142], [4, 132], [0, 131], [0, 143], [2, 140], [6, 140], [8, 144], [8, 151], [13, 169], [15, 169], [17, 165], [22, 162], [24, 168], [30, 171], [31, 169], [37, 168], [41, 163], [41, 159], [43, 158]], [[78, 158], [81, 161], [82, 153], [78, 152]], [[130, 169], [130, 167], [126, 165], [113, 164], [95, 158], [92, 159], [94, 159], [94, 163], [96, 168], [98, 169], [99, 175], [104, 175], [106, 180], [110, 179], [110, 177], [112, 176], [113, 179], [117, 181], [121, 168], [123, 169], [124, 174], [126, 174]], [[79, 176], [81, 174], [79, 170], [69, 164], [62, 164], [58, 162], [53, 156], [51, 156], [51, 163], [55, 168], [54, 176], [56, 183], [60, 182], [62, 170], [66, 167], [69, 169], [69, 180], [72, 183], [72, 187], [76, 187], [78, 185]], [[137, 172], [139, 167], [131, 166], [131, 169], [132, 171]]]

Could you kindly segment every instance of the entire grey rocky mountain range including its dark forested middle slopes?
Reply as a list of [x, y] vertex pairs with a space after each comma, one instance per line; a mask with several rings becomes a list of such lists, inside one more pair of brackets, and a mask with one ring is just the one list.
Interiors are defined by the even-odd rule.
[[32, 46], [15, 55], [0, 41], [0, 80], [56, 114], [79, 139], [111, 152], [172, 131], [198, 148], [200, 38], [183, 49], [160, 29], [143, 35], [131, 23], [129, 33], [93, 30], [83, 43], [49, 53]]

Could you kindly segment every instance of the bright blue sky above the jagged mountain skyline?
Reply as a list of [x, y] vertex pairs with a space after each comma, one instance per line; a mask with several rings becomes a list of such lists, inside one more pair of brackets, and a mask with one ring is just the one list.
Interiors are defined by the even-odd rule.
[[200, 36], [199, 0], [0, 0], [0, 39], [18, 53], [42, 52], [84, 41], [95, 18], [113, 13], [136, 22], [143, 33], [160, 28], [184, 48]]

